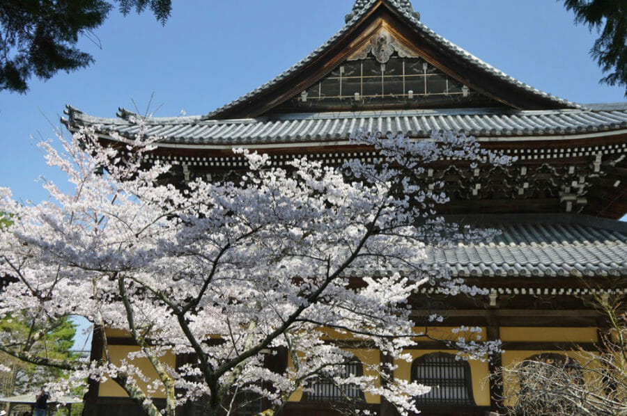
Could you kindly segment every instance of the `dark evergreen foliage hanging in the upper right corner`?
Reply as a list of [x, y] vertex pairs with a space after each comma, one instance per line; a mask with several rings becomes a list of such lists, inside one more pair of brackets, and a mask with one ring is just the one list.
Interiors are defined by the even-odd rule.
[[564, 0], [564, 6], [575, 12], [576, 23], [600, 33], [590, 54], [608, 72], [601, 83], [625, 86], [627, 97], [627, 1]]

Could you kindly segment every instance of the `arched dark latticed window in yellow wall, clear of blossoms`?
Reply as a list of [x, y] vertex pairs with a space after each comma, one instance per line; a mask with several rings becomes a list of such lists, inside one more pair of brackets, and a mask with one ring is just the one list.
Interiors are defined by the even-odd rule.
[[419, 404], [474, 404], [470, 366], [456, 360], [455, 355], [433, 353], [417, 358], [412, 365], [412, 380], [431, 387], [431, 392], [416, 398]]

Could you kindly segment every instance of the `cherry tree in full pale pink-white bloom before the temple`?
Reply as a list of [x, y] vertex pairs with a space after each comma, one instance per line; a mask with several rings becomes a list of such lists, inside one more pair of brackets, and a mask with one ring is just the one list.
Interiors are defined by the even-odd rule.
[[[49, 200], [20, 205], [0, 191], [0, 211], [13, 214], [0, 232], [0, 273], [17, 280], [0, 294], [0, 318], [20, 312], [40, 328], [31, 336], [42, 337], [79, 314], [95, 328], [125, 331], [139, 350], [114, 362], [96, 330], [104, 353], [88, 363], [31, 354], [14, 333], [0, 333], [0, 351], [71, 371], [57, 390], [111, 379], [151, 416], [161, 415], [151, 399], [157, 390], [167, 397], [165, 415], [188, 401], [205, 415], [229, 414], [238, 392], [265, 397], [272, 415], [320, 376], [380, 394], [403, 415], [417, 411], [412, 398], [428, 387], [387, 377], [394, 369], [387, 363], [348, 374], [355, 357], [336, 341], [367, 344], [386, 362], [410, 360], [403, 348], [426, 336], [408, 303], [418, 287], [482, 293], [425, 262], [426, 244], [490, 236], [436, 215], [447, 196], [426, 167], [446, 158], [510, 160], [458, 134], [412, 141], [358, 133], [356, 145], [380, 154], [371, 163], [295, 159], [279, 168], [264, 154], [235, 150], [248, 166], [237, 179], [171, 184], [164, 181], [171, 166], [146, 163], [155, 140], [138, 134], [103, 144], [89, 129], [60, 136], [60, 144], [41, 146], [72, 193], [45, 182]], [[474, 358], [499, 349], [476, 340], [460, 335], [456, 344]], [[275, 371], [266, 364], [277, 351], [290, 365]], [[170, 354], [187, 364], [169, 366]], [[147, 359], [157, 379], [134, 358]]]

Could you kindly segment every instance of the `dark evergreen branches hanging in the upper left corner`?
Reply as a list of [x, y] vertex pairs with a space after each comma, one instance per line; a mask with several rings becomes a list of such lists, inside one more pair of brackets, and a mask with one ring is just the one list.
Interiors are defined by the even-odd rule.
[[33, 76], [46, 80], [93, 63], [76, 44], [104, 22], [113, 3], [125, 15], [150, 8], [162, 24], [171, 12], [171, 0], [0, 1], [0, 91], [25, 93]]

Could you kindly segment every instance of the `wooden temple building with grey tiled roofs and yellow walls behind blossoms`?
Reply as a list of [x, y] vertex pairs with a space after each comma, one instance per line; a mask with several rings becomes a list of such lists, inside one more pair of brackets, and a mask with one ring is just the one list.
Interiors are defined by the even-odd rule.
[[[111, 131], [139, 131], [140, 116], [124, 109], [118, 118], [72, 107], [67, 115], [71, 131], [91, 126], [104, 140]], [[591, 295], [627, 290], [627, 223], [619, 221], [627, 214], [627, 103], [583, 105], [536, 90], [431, 31], [409, 0], [357, 0], [330, 40], [260, 88], [206, 115], [144, 122], [146, 134], [162, 138], [150, 157], [173, 164], [174, 182], [243, 169], [233, 147], [265, 152], [277, 166], [304, 155], [332, 165], [367, 161], [373, 149], [349, 140], [357, 129], [416, 140], [461, 131], [517, 158], [490, 168], [444, 160], [427, 170], [451, 198], [442, 214], [502, 234], [428, 249], [429, 262], [489, 294], [451, 299], [426, 286], [412, 304], [417, 326], [440, 313], [445, 319], [435, 333], [481, 326], [483, 339], [501, 339], [504, 352], [490, 362], [464, 362], [442, 344], [416, 342], [408, 350], [415, 361], [398, 362], [394, 377], [439, 386], [417, 399], [422, 415], [497, 412], [504, 387], [489, 374], [530, 357], [576, 360], [576, 349], [594, 351], [606, 323]], [[123, 334], [107, 335], [111, 351], [135, 348]], [[92, 353], [102, 354], [98, 342]], [[373, 351], [355, 355], [380, 359]], [[334, 415], [340, 399], [332, 386], [297, 394], [284, 415]], [[359, 399], [375, 414], [396, 414], [380, 397]], [[96, 385], [91, 401], [98, 415], [134, 414], [111, 382]]]

